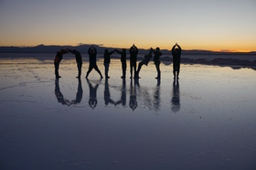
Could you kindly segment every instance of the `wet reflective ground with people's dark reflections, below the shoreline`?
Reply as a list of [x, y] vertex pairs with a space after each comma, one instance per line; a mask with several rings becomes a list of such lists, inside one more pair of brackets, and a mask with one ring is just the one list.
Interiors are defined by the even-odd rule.
[[[255, 169], [256, 72], [153, 63], [140, 80], [75, 60], [1, 59], [1, 169]], [[129, 66], [129, 63], [127, 63]], [[104, 72], [102, 60], [99, 68]]]

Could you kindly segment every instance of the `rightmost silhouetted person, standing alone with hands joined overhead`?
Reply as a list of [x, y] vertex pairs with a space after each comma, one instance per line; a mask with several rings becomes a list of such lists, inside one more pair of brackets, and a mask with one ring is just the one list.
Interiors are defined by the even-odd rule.
[[177, 43], [172, 48], [172, 54], [173, 54], [173, 73], [174, 73], [174, 79], [178, 80], [179, 69], [180, 69], [181, 48], [180, 48], [180, 46]]

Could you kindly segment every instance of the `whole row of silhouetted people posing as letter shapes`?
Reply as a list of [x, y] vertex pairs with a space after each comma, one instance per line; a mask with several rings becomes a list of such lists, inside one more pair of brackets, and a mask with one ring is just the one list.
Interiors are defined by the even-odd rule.
[[[154, 63], [155, 63], [155, 68], [157, 71], [157, 77], [155, 79], [161, 79], [161, 70], [160, 70], [160, 57], [162, 56], [162, 52], [160, 52], [160, 48], [150, 48], [148, 54], [144, 55], [144, 59], [139, 63], [138, 69], [136, 69], [137, 65], [137, 55], [138, 55], [139, 49], [133, 44], [133, 46], [129, 49], [130, 52], [130, 72], [131, 72], [131, 77], [130, 79], [140, 79], [139, 73], [140, 70], [142, 69], [142, 66], [145, 65], [147, 66], [150, 59], [152, 58], [152, 53], [154, 53]], [[172, 48], [172, 55], [173, 55], [173, 74], [174, 74], [174, 79], [179, 79], [179, 70], [180, 70], [180, 57], [181, 57], [181, 48], [180, 46], [176, 43], [176, 45]], [[57, 55], [54, 59], [54, 66], [55, 66], [55, 75], [56, 79], [61, 78], [59, 76], [59, 63], [61, 59], [63, 58], [63, 54], [67, 53], [72, 53], [76, 57], [77, 61], [77, 67], [78, 67], [78, 77], [80, 79], [81, 76], [81, 67], [82, 67], [82, 57], [80, 55], [80, 52], [77, 51], [76, 49], [61, 49], [57, 52]], [[114, 49], [112, 51], [109, 51], [108, 49], [105, 49], [104, 51], [104, 67], [105, 67], [105, 78], [109, 79], [109, 67], [111, 63], [111, 55], [117, 52], [118, 54], [121, 54], [121, 62], [122, 62], [122, 69], [123, 69], [123, 76], [121, 77], [122, 79], [125, 79], [126, 77], [126, 49], [123, 48], [122, 51]], [[101, 76], [101, 79], [103, 78], [101, 74], [101, 70], [97, 66], [97, 49], [93, 46], [91, 46], [88, 50], [89, 54], [89, 69], [86, 73], [86, 78], [88, 78], [90, 72], [92, 69], [95, 69]]]

